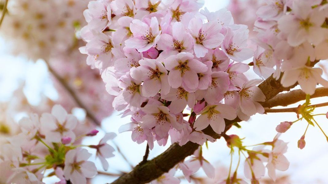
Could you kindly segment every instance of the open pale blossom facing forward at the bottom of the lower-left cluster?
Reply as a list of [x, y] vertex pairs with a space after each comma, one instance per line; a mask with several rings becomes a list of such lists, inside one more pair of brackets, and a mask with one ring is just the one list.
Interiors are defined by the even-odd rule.
[[86, 177], [91, 178], [97, 174], [93, 162], [87, 161], [91, 156], [86, 149], [73, 149], [66, 153], [64, 177], [73, 184], [87, 183]]

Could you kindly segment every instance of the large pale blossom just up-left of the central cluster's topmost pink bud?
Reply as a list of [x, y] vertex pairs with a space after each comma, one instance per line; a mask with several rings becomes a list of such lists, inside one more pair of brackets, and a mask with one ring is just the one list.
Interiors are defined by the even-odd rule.
[[125, 41], [125, 45], [129, 48], [135, 48], [139, 52], [144, 52], [156, 45], [160, 39], [161, 31], [156, 17], [152, 17], [150, 25], [140, 20], [133, 20], [130, 24], [130, 30], [133, 38]]

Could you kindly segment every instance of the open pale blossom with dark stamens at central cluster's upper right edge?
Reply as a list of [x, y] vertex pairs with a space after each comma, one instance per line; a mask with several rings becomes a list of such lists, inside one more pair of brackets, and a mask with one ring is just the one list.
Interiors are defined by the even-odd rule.
[[232, 60], [242, 62], [250, 59], [254, 52], [252, 49], [246, 48], [248, 29], [239, 29], [236, 31], [226, 28], [224, 41], [221, 44], [222, 51]]

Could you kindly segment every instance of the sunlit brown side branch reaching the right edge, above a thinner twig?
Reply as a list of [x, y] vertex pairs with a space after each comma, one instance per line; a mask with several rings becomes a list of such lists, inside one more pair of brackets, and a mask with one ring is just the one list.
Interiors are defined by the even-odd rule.
[[[322, 96], [328, 96], [328, 88], [317, 88], [315, 93], [311, 95], [311, 98], [317, 98]], [[288, 106], [290, 104], [297, 103], [301, 100], [305, 100], [306, 94], [302, 90], [293, 90], [287, 93], [281, 93], [268, 100], [265, 103], [262, 103], [264, 107], [272, 108], [277, 106]]]

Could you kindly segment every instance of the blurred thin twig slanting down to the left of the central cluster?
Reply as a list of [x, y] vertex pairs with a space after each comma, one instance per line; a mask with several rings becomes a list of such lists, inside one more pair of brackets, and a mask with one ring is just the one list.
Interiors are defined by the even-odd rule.
[[[92, 122], [97, 125], [101, 126], [101, 122], [92, 114], [92, 111], [90, 111], [84, 104], [83, 102], [79, 99], [79, 97], [75, 94], [71, 86], [56, 72], [53, 70], [53, 68], [50, 66], [49, 62], [46, 61], [46, 64], [48, 66], [49, 71], [51, 74], [60, 82], [60, 84], [66, 89], [66, 91], [72, 96], [74, 99], [75, 103], [82, 109], [85, 109], [87, 117], [89, 117]], [[122, 158], [130, 165], [131, 168], [133, 168], [133, 165], [128, 161], [126, 156], [121, 152], [121, 149], [119, 146], [114, 142], [114, 140], [111, 140], [116, 147], [117, 152], [122, 156]]]

